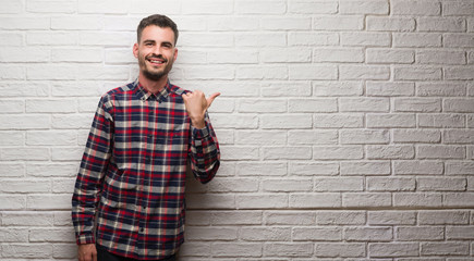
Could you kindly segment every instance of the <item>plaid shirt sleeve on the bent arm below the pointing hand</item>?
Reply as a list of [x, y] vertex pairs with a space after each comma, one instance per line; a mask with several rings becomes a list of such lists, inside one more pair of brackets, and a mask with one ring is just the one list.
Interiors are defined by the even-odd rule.
[[204, 128], [191, 126], [192, 137], [189, 153], [191, 170], [194, 176], [203, 184], [214, 178], [220, 165], [219, 144], [207, 113], [205, 123], [206, 126]]

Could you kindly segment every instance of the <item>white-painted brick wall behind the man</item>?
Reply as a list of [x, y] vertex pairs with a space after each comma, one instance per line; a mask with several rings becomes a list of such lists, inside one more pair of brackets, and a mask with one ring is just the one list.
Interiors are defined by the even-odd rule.
[[92, 116], [151, 13], [181, 29], [173, 83], [222, 92], [180, 260], [474, 259], [473, 0], [9, 0], [1, 260], [75, 259]]

